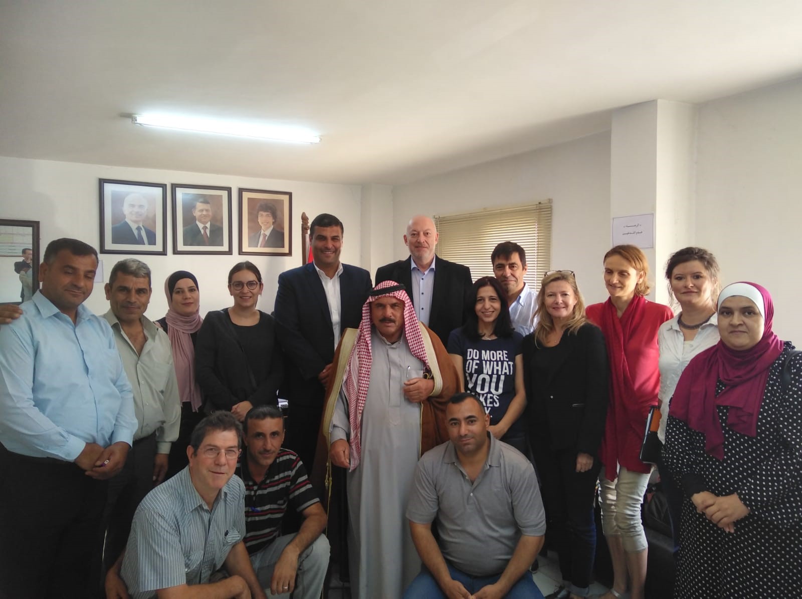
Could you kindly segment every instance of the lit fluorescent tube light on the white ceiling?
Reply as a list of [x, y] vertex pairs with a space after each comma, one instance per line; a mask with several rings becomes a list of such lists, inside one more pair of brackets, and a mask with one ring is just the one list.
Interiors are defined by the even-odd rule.
[[204, 133], [219, 133], [221, 135], [238, 135], [256, 139], [273, 139], [282, 142], [320, 143], [320, 137], [318, 137], [318, 135], [314, 135], [314, 133], [298, 127], [256, 125], [253, 123], [239, 123], [237, 121], [176, 115], [132, 115], [131, 121], [135, 125], [147, 125], [148, 127], [201, 131]]

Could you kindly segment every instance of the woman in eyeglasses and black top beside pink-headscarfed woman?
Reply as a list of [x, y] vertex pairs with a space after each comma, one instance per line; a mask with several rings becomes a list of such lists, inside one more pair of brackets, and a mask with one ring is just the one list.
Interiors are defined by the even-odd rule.
[[256, 308], [262, 288], [255, 264], [235, 264], [229, 271], [234, 305], [209, 312], [198, 332], [195, 371], [206, 412], [226, 410], [242, 421], [253, 406], [278, 403], [282, 352], [273, 316]]

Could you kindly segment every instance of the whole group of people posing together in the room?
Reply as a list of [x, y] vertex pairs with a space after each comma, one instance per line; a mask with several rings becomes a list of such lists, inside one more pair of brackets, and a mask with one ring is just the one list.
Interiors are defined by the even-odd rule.
[[241, 262], [233, 306], [201, 318], [176, 271], [156, 321], [145, 263], [115, 264], [99, 318], [95, 250], [48, 245], [41, 290], [0, 308], [0, 595], [311, 599], [332, 553], [354, 599], [541, 597], [548, 537], [549, 597], [586, 597], [598, 485], [604, 597], [639, 599], [654, 406], [675, 596], [802, 588], [802, 361], [763, 287], [719, 292], [715, 257], [687, 247], [666, 266], [674, 316], [625, 245], [585, 307], [573, 271], [530, 289], [512, 242], [473, 282], [426, 216], [373, 287], [340, 262], [343, 234], [312, 221], [313, 261], [279, 275], [273, 314]]

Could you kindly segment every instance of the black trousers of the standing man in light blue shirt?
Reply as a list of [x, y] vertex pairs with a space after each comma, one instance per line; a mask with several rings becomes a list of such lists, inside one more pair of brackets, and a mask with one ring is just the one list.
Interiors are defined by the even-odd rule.
[[0, 446], [0, 597], [91, 597], [107, 483]]

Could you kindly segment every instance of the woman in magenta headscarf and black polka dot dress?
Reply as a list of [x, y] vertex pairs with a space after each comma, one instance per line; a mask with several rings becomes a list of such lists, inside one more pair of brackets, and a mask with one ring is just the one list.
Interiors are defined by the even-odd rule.
[[724, 287], [718, 316], [669, 408], [663, 459], [687, 497], [674, 597], [797, 597], [802, 356], [772, 332], [764, 287]]

